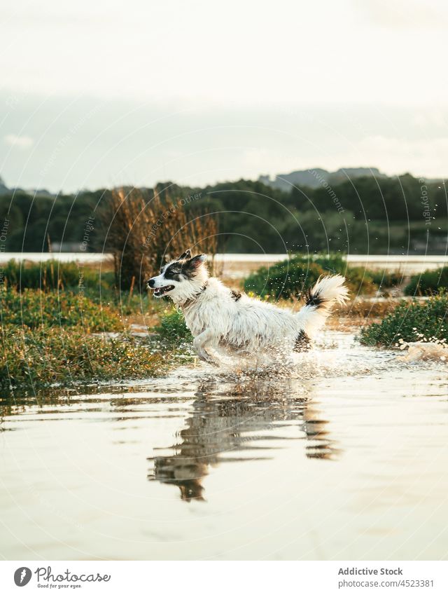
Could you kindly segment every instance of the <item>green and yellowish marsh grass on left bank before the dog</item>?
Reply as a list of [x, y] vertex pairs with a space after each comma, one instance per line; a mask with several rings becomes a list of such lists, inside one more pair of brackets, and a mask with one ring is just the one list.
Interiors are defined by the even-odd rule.
[[[125, 315], [147, 310], [146, 296], [143, 302], [138, 295], [120, 297], [104, 303], [99, 293], [93, 298], [73, 291], [1, 290], [0, 387], [34, 390], [53, 383], [144, 378], [165, 371], [179, 344], [172, 317], [160, 323], [173, 333], [169, 345], [144, 344], [127, 334]], [[156, 308], [155, 302], [151, 306]], [[181, 329], [181, 320], [178, 323]], [[94, 335], [102, 332], [120, 336]], [[165, 335], [160, 338], [167, 343]]]

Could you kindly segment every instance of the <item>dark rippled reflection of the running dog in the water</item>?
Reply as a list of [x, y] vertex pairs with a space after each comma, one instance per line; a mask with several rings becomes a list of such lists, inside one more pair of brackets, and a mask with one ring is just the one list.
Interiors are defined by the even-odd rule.
[[[321, 418], [303, 386], [300, 393], [297, 397], [296, 385], [293, 394], [292, 383], [284, 378], [280, 382], [225, 383], [219, 388], [215, 381], [202, 383], [178, 443], [164, 449], [173, 454], [148, 459], [153, 461], [148, 479], [178, 486], [182, 500], [204, 500], [202, 479], [210, 465], [267, 458], [266, 440], [291, 438], [290, 432], [282, 432], [288, 421], [297, 426], [295, 438], [306, 441], [307, 457], [334, 458], [337, 449], [325, 430], [328, 422]], [[272, 435], [276, 428], [278, 431]], [[257, 454], [260, 450], [263, 456]], [[242, 456], [243, 451], [246, 456]]]

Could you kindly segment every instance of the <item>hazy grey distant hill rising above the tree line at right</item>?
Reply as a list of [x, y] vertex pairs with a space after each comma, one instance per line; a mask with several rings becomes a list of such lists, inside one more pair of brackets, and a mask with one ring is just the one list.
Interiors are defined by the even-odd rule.
[[313, 167], [309, 170], [299, 170], [290, 174], [279, 174], [274, 179], [269, 176], [260, 176], [258, 180], [267, 186], [279, 190], [290, 191], [291, 186], [307, 186], [307, 188], [319, 188], [322, 184], [335, 186], [346, 179], [359, 177], [386, 178], [377, 167], [341, 167], [337, 172], [328, 172], [321, 167]]

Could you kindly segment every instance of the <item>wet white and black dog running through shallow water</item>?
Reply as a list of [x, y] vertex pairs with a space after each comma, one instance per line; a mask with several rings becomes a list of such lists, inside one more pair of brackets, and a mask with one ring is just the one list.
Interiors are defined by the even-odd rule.
[[181, 308], [193, 334], [193, 346], [205, 362], [219, 348], [256, 355], [260, 351], [290, 353], [309, 348], [310, 338], [323, 325], [335, 303], [344, 303], [344, 277], [324, 277], [308, 289], [305, 305], [293, 313], [225, 287], [209, 277], [205, 254], [190, 250], [166, 264], [148, 280], [155, 297], [169, 296]]

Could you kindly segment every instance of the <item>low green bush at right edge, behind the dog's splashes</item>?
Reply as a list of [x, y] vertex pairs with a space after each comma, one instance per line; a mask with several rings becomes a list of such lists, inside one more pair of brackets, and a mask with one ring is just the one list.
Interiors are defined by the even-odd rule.
[[391, 347], [397, 341], [448, 339], [448, 294], [433, 296], [424, 303], [402, 301], [379, 323], [360, 332], [365, 345]]

